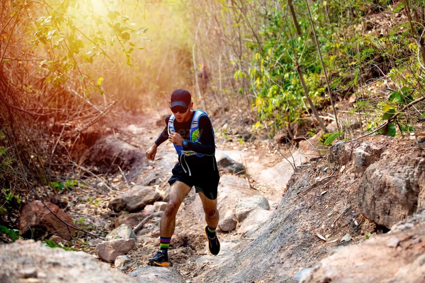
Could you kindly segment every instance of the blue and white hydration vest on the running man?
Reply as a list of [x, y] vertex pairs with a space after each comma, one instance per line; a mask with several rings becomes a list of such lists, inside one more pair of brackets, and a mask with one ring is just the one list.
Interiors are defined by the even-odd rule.
[[[201, 137], [201, 133], [199, 132], [198, 121], [199, 121], [199, 118], [202, 115], [207, 115], [207, 113], [204, 112], [204, 111], [202, 111], [202, 110], [199, 110], [199, 109], [196, 110], [195, 113], [193, 114], [192, 123], [190, 124], [190, 131], [189, 131], [190, 141], [195, 142], [195, 143], [201, 143], [199, 141], [199, 138]], [[170, 131], [176, 132], [174, 130], [174, 120], [175, 119], [176, 119], [176, 117], [174, 116], [174, 114], [171, 114], [170, 120], [168, 120], [168, 135], [170, 135]], [[212, 136], [215, 137], [214, 130], [212, 131]], [[190, 172], [189, 165], [187, 165], [187, 162], [186, 162], [185, 157], [186, 156], [190, 156], [190, 155], [196, 155], [198, 157], [202, 157], [202, 156], [207, 155], [207, 154], [199, 154], [199, 153], [197, 153], [197, 152], [195, 152], [193, 150], [184, 150], [183, 146], [176, 145], [175, 143], [173, 143], [173, 145], [174, 145], [174, 148], [177, 151], [179, 162], [181, 163], [181, 156], [183, 156], [183, 160], [186, 163], [187, 169], [189, 171], [189, 176], [192, 176], [192, 174]], [[210, 156], [213, 156], [213, 155], [214, 154], [212, 154]], [[184, 166], [182, 165], [181, 167], [183, 168], [184, 173], [187, 173], [187, 171], [184, 168]], [[215, 170], [214, 159], [212, 160], [212, 167]]]

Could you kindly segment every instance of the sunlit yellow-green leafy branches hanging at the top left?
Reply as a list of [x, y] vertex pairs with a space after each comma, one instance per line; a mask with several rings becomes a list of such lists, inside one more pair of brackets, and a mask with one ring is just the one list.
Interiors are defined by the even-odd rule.
[[[118, 11], [113, 1], [105, 1], [105, 7], [94, 7], [92, 1], [66, 0], [61, 5], [51, 6], [45, 16], [34, 20], [37, 31], [31, 41], [31, 50], [40, 43], [52, 48], [53, 59], [42, 60], [37, 71], [50, 73], [46, 81], [58, 87], [78, 73], [86, 93], [98, 90], [103, 94], [99, 81], [81, 70], [85, 64], [92, 64], [97, 58], [108, 58], [106, 52], [118, 42], [128, 66], [133, 68], [130, 54], [140, 39], [151, 41], [144, 35], [149, 28], [133, 28], [130, 18]], [[99, 12], [106, 8], [106, 17]], [[143, 48], [138, 48], [143, 49]], [[87, 85], [90, 81], [90, 87]]]

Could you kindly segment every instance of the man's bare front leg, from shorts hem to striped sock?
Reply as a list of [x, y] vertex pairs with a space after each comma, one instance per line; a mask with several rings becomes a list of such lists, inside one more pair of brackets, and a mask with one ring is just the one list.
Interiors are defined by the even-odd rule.
[[173, 236], [174, 228], [176, 227], [176, 214], [178, 208], [189, 191], [190, 187], [183, 182], [175, 181], [171, 185], [167, 207], [161, 216], [161, 224], [159, 227], [161, 230], [161, 237]]

